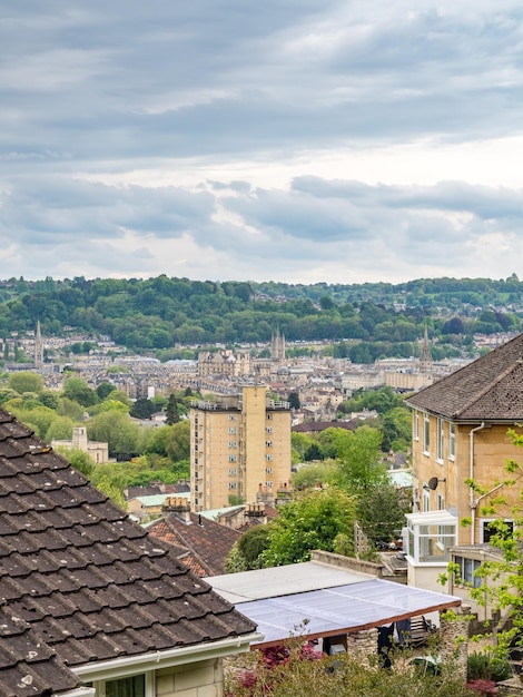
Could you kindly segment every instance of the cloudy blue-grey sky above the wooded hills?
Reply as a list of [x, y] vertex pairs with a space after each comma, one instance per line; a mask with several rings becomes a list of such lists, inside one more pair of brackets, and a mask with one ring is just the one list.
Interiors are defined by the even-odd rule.
[[0, 45], [0, 278], [523, 276], [521, 0], [17, 0]]

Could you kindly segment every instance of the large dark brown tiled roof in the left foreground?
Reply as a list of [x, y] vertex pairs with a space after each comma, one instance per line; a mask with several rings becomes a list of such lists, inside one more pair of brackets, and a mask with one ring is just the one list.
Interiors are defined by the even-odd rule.
[[2, 697], [69, 689], [68, 667], [255, 629], [2, 409], [0, 589]]

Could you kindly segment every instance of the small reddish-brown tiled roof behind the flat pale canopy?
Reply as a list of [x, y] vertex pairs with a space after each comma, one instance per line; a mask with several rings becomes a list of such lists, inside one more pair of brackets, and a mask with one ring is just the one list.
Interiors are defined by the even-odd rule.
[[201, 576], [225, 573], [225, 560], [240, 533], [197, 513], [189, 513], [189, 522], [176, 513], [149, 526], [152, 537], [158, 537], [188, 554], [178, 559]]

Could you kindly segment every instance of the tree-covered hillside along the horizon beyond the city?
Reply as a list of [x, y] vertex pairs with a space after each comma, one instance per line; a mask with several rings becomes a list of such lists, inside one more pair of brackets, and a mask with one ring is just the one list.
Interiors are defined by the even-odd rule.
[[514, 274], [504, 281], [434, 278], [398, 285], [219, 283], [166, 275], [0, 281], [0, 336], [33, 330], [40, 320], [46, 335], [75, 327], [110, 335], [132, 351], [267, 342], [279, 330], [289, 342], [348, 342], [346, 351], [358, 354], [352, 360], [369, 362], [379, 355], [416, 355], [426, 324], [442, 346], [457, 346], [470, 344], [476, 332], [519, 330], [522, 316], [523, 283]]

